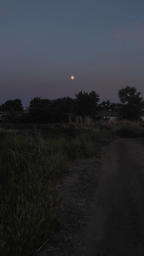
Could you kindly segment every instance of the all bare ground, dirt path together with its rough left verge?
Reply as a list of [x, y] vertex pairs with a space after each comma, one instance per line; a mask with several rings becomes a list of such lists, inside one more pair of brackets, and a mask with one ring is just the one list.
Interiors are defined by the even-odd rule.
[[144, 255], [144, 139], [117, 139], [104, 151], [71, 165], [57, 185], [62, 224], [42, 255]]

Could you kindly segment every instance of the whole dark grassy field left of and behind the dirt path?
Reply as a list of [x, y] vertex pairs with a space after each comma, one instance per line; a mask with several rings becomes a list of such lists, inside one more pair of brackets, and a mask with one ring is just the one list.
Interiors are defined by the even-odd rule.
[[88, 117], [69, 124], [1, 124], [0, 255], [37, 255], [51, 242], [63, 206], [50, 191], [71, 162], [100, 157], [115, 137], [143, 136], [139, 123]]

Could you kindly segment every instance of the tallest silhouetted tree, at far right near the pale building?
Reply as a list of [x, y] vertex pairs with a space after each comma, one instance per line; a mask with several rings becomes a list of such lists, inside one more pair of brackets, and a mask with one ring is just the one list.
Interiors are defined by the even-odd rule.
[[144, 101], [139, 97], [140, 94], [141, 92], [137, 92], [134, 86], [129, 85], [118, 90], [118, 98], [122, 103], [125, 119], [139, 119], [139, 112], [144, 108]]

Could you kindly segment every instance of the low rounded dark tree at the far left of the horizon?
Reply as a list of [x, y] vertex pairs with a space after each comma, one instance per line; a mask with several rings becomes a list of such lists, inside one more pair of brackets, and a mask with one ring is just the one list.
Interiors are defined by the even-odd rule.
[[1, 111], [20, 112], [23, 110], [21, 99], [7, 100], [0, 106]]

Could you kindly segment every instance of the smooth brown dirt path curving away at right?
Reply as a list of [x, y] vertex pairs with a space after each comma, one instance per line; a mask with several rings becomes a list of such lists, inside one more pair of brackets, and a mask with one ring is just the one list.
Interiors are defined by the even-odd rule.
[[105, 159], [93, 214], [73, 255], [143, 256], [144, 139], [113, 141]]

